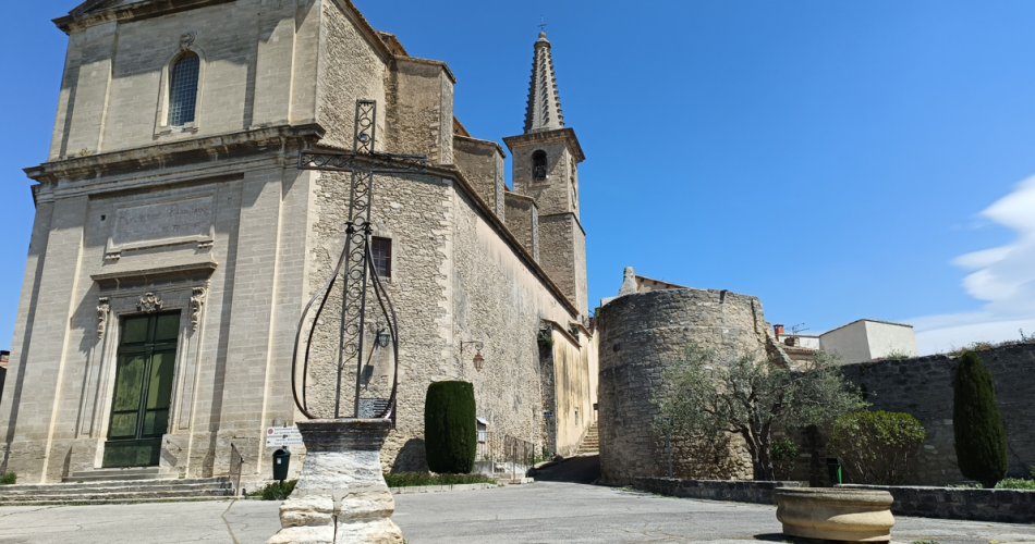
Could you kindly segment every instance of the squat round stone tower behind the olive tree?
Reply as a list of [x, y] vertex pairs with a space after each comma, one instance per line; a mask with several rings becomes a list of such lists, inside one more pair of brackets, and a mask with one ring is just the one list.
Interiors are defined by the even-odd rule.
[[[719, 357], [775, 348], [758, 298], [726, 290], [670, 289], [619, 297], [597, 313], [600, 468], [607, 483], [668, 474], [665, 434], [654, 428], [662, 373], [697, 343]], [[752, 478], [743, 442], [732, 437], [699, 447], [674, 437], [679, 478]]]

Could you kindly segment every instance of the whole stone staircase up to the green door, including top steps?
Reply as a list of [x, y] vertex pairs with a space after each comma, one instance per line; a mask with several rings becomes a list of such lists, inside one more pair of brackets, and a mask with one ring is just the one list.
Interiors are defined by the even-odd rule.
[[62, 480], [0, 486], [0, 506], [218, 500], [234, 494], [229, 478], [180, 480], [157, 468], [73, 472]]

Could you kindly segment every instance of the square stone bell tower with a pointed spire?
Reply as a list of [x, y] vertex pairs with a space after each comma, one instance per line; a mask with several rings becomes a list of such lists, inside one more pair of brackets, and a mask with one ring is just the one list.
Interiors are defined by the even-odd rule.
[[524, 134], [503, 138], [513, 160], [514, 193], [538, 209], [538, 261], [550, 279], [588, 316], [586, 233], [579, 220], [579, 163], [586, 160], [575, 131], [564, 126], [553, 57], [539, 33]]

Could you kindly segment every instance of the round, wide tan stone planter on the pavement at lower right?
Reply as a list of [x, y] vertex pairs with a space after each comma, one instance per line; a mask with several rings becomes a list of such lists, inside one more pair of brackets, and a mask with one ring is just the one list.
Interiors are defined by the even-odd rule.
[[777, 490], [777, 519], [788, 536], [888, 542], [891, 540], [891, 494], [842, 489]]

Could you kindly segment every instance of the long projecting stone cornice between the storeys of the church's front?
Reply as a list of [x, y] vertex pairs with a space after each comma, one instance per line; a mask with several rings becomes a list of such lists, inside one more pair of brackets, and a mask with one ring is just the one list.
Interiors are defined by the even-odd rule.
[[216, 162], [234, 156], [265, 154], [271, 145], [284, 146], [290, 140], [312, 144], [324, 136], [316, 123], [281, 125], [255, 131], [155, 144], [121, 151], [59, 159], [24, 169], [25, 174], [40, 183], [61, 178], [102, 177], [126, 171], [143, 172], [172, 165]]

